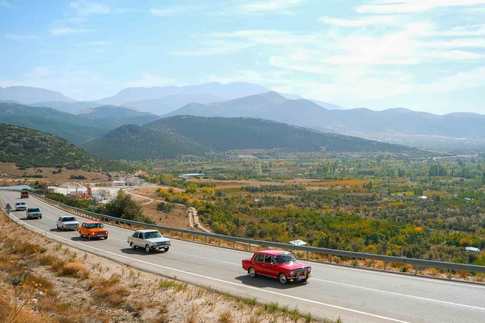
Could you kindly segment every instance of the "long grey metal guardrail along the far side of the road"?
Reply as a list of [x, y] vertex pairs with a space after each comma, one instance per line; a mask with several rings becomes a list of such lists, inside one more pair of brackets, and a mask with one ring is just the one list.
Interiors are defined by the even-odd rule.
[[[21, 192], [20, 190], [8, 190], [8, 189], [1, 190], [1, 191]], [[374, 254], [366, 254], [366, 253], [360, 253], [360, 252], [335, 250], [335, 249], [327, 249], [327, 248], [318, 248], [318, 247], [298, 246], [298, 245], [292, 245], [292, 244], [288, 244], [288, 243], [260, 241], [260, 240], [254, 240], [254, 239], [225, 236], [225, 235], [222, 235], [222, 234], [187, 230], [187, 229], [181, 229], [181, 228], [176, 228], [176, 227], [171, 227], [171, 226], [152, 225], [152, 224], [148, 224], [148, 223], [116, 218], [116, 217], [109, 216], [109, 215], [99, 214], [99, 213], [95, 213], [95, 212], [90, 212], [90, 211], [70, 207], [68, 205], [59, 203], [57, 201], [51, 200], [49, 198], [46, 198], [44, 196], [41, 196], [41, 195], [38, 195], [38, 194], [35, 194], [35, 193], [29, 193], [29, 194], [34, 195], [39, 200], [44, 201], [44, 202], [46, 202], [50, 205], [53, 205], [58, 209], [65, 210], [67, 212], [77, 214], [77, 215], [80, 215], [80, 216], [83, 216], [83, 217], [86, 217], [86, 218], [96, 219], [97, 221], [106, 222], [106, 223], [114, 224], [114, 225], [118, 225], [118, 226], [121, 226], [122, 224], [124, 224], [125, 228], [127, 228], [127, 225], [129, 225], [128, 228], [131, 228], [131, 229], [133, 229], [133, 228], [138, 229], [140, 227], [149, 227], [149, 228], [156, 228], [156, 229], [161, 229], [161, 230], [165, 230], [165, 231], [175, 231], [175, 232], [180, 232], [182, 238], [183, 238], [183, 234], [187, 233], [187, 234], [192, 235], [193, 241], [195, 241], [195, 236], [204, 236], [206, 238], [205, 239], [206, 243], [207, 243], [208, 237], [209, 238], [215, 238], [215, 239], [218, 239], [219, 245], [221, 244], [221, 240], [231, 241], [231, 242], [233, 242], [233, 248], [234, 248], [234, 243], [239, 242], [239, 243], [248, 244], [249, 250], [251, 250], [251, 245], [259, 245], [259, 246], [280, 248], [280, 249], [286, 249], [286, 250], [298, 250], [298, 251], [306, 252], [307, 259], [308, 259], [309, 253], [324, 254], [324, 255], [329, 256], [328, 257], [329, 262], [332, 262], [331, 256], [354, 258], [356, 260], [357, 259], [380, 260], [384, 263], [383, 270], [386, 270], [386, 266], [387, 266], [388, 263], [402, 263], [402, 264], [412, 265], [413, 268], [416, 270], [416, 272], [417, 272], [418, 269], [423, 269], [423, 268], [445, 268], [445, 269], [448, 269], [450, 271], [450, 273], [451, 273], [452, 270], [485, 273], [485, 266], [469, 265], [469, 264], [453, 263], [453, 262], [444, 262], [444, 261], [435, 261], [435, 260], [416, 259], [416, 258], [402, 258], [402, 257], [394, 257], [394, 256], [374, 255]]]

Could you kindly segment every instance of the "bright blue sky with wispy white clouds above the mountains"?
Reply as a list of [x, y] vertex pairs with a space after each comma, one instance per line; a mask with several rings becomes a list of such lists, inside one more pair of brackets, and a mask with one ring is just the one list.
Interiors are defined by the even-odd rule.
[[485, 113], [485, 0], [0, 0], [0, 16], [3, 87], [94, 100], [247, 81], [346, 108]]

